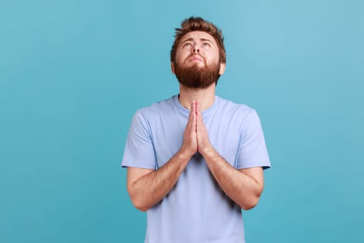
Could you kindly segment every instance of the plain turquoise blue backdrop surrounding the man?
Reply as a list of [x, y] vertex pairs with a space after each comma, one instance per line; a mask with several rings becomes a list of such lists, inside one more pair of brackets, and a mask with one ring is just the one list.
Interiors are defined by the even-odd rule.
[[223, 28], [217, 94], [255, 108], [272, 169], [248, 242], [363, 242], [363, 1], [1, 1], [0, 242], [143, 242], [123, 147], [177, 94], [174, 28]]

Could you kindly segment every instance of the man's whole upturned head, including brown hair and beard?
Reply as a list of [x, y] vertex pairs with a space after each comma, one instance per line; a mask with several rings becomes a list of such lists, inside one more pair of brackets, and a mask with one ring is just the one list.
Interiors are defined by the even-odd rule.
[[205, 88], [217, 83], [226, 64], [221, 31], [200, 17], [184, 19], [181, 28], [175, 31], [171, 68], [178, 81], [189, 88]]

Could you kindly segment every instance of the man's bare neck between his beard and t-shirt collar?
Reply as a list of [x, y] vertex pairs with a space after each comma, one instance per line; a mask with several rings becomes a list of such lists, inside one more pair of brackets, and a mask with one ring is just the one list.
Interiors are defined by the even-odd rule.
[[202, 111], [210, 108], [215, 101], [215, 83], [205, 89], [190, 89], [180, 84], [180, 103], [187, 109], [191, 108], [192, 101], [200, 101]]

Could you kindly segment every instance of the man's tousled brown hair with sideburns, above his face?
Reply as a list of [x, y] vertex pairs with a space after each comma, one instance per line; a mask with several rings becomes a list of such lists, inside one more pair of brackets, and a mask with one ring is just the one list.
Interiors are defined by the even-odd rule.
[[171, 49], [171, 62], [175, 62], [175, 53], [177, 52], [181, 38], [191, 31], [204, 31], [214, 37], [218, 44], [220, 63], [226, 63], [223, 33], [214, 24], [205, 21], [202, 17], [189, 17], [188, 19], [184, 19], [181, 23], [181, 28], [175, 28], [175, 42]]

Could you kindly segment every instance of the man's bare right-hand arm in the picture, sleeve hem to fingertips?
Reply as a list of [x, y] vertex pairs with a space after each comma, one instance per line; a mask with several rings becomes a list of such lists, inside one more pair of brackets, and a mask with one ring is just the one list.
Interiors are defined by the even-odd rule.
[[202, 119], [199, 103], [196, 103], [198, 151], [205, 158], [207, 167], [221, 189], [245, 210], [254, 208], [263, 192], [263, 168], [235, 169], [214, 149]]

